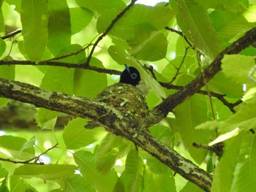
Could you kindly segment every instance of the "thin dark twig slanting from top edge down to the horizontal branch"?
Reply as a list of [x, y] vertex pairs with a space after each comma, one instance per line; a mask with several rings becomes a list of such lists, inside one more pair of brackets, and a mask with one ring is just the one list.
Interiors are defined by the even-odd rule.
[[103, 39], [103, 37], [105, 37], [108, 32], [111, 30], [111, 28], [113, 28], [113, 26], [116, 24], [116, 22], [124, 15], [125, 12], [127, 12], [127, 10], [132, 7], [133, 4], [135, 4], [137, 0], [132, 0], [128, 5], [127, 7], [125, 7], [121, 12], [119, 12], [118, 15], [116, 15], [116, 18], [114, 18], [112, 20], [112, 22], [110, 23], [110, 25], [108, 26], [108, 28], [106, 29], [106, 31], [103, 32], [103, 34], [101, 34], [98, 39], [96, 40], [96, 42], [94, 43], [94, 46], [91, 48], [91, 52], [87, 58], [87, 61], [86, 61], [86, 66], [89, 65], [90, 61], [91, 61], [91, 57], [92, 57], [92, 54], [94, 53], [94, 50], [95, 48], [97, 47], [98, 43]]

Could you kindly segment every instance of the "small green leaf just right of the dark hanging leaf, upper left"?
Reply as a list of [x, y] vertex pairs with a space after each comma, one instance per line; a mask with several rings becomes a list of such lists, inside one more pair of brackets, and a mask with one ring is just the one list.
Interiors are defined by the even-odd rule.
[[[76, 34], [86, 28], [91, 22], [93, 13], [89, 9], [74, 7], [69, 9], [72, 34]], [[83, 20], [80, 20], [83, 18]]]

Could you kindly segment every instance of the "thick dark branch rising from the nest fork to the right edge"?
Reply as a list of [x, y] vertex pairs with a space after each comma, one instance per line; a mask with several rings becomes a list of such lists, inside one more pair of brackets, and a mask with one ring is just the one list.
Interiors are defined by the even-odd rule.
[[[254, 44], [256, 42], [256, 28], [252, 28], [251, 30], [247, 31], [243, 37], [233, 42], [229, 47], [223, 50], [217, 58], [212, 61], [212, 63], [204, 70], [203, 74], [205, 75], [205, 80], [208, 82], [214, 77], [217, 72], [221, 70], [221, 61], [225, 54], [236, 54], [239, 53], [241, 50], [244, 50], [246, 47]], [[165, 101], [159, 104], [157, 107], [154, 108], [152, 114], [154, 116], [159, 117], [159, 119], [154, 122], [157, 123], [162, 118], [164, 118], [168, 112], [172, 111], [178, 104], [181, 104], [184, 100], [188, 99], [190, 96], [197, 93], [204, 86], [203, 74], [198, 75], [195, 80], [190, 82], [187, 86], [181, 89], [173, 95], [168, 96]]]

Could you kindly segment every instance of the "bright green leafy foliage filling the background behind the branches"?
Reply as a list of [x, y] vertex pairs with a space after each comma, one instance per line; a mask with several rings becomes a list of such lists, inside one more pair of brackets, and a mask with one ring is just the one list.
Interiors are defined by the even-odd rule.
[[[128, 64], [139, 69], [150, 88], [147, 103], [152, 109], [177, 89], [163, 88], [159, 82], [187, 85], [220, 51], [256, 26], [253, 0], [134, 4], [120, 15], [90, 58], [99, 34], [108, 30], [127, 4], [121, 0], [0, 1], [1, 61], [37, 64], [1, 65], [0, 77], [92, 98], [118, 81], [118, 72], [98, 69], [122, 71]], [[22, 33], [5, 38], [18, 28]], [[255, 134], [249, 131], [256, 123], [255, 55], [255, 47], [225, 55], [222, 72], [206, 84], [203, 94], [195, 94], [150, 128], [154, 137], [213, 174], [212, 191], [256, 190]], [[57, 61], [72, 67], [57, 66]], [[88, 63], [95, 70], [76, 67]], [[154, 66], [156, 79], [144, 64]], [[0, 98], [1, 107], [8, 102]], [[37, 131], [0, 125], [4, 130], [0, 191], [202, 191], [148, 153], [137, 151], [132, 142], [100, 127], [84, 128], [85, 119], [70, 119], [60, 131], [56, 129], [57, 118], [63, 116], [60, 112], [37, 108], [26, 118], [31, 116]], [[193, 147], [193, 142], [224, 142], [224, 153], [219, 158]]]

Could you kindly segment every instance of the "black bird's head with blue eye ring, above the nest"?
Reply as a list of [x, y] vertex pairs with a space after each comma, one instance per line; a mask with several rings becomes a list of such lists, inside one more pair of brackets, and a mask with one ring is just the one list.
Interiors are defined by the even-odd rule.
[[125, 64], [125, 69], [124, 72], [121, 73], [119, 82], [136, 86], [140, 82], [140, 73], [135, 67]]

